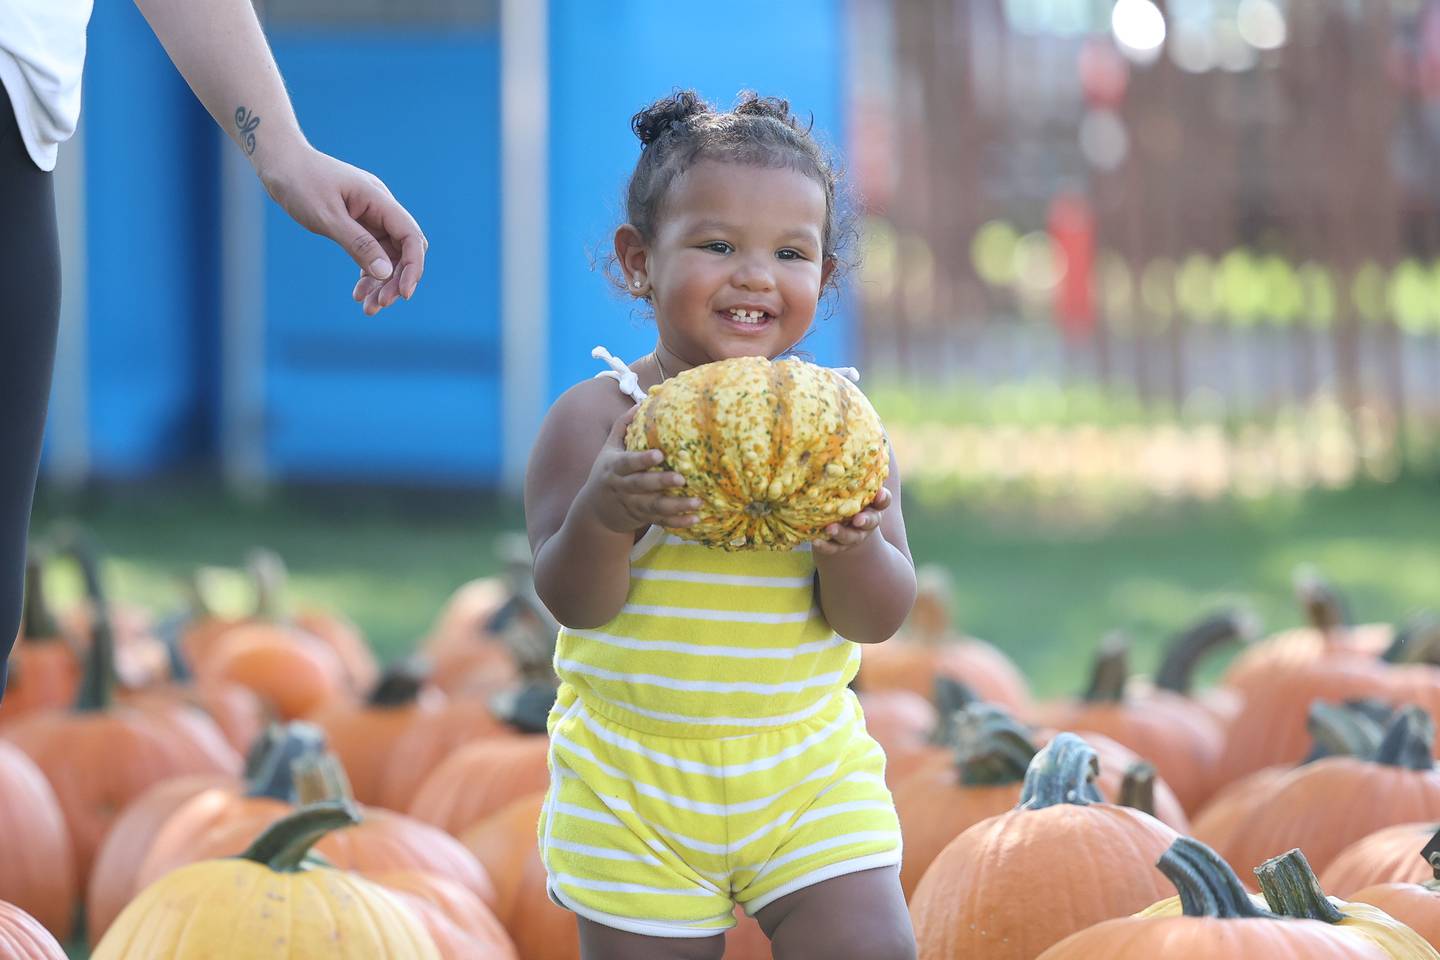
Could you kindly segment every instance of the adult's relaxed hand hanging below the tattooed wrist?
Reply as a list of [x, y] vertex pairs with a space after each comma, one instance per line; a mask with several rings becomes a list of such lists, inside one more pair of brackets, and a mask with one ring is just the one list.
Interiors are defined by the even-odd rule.
[[415, 295], [429, 240], [379, 177], [305, 145], [269, 163], [261, 181], [297, 223], [328, 236], [360, 266], [351, 295], [367, 317]]

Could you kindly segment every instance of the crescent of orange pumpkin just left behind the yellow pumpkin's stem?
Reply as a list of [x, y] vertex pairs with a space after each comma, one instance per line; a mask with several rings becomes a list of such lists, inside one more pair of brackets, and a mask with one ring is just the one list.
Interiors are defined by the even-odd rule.
[[239, 782], [219, 773], [171, 777], [141, 793], [115, 818], [95, 855], [85, 894], [85, 936], [91, 948], [140, 892], [135, 868], [156, 833], [186, 802], [210, 789], [238, 790]]

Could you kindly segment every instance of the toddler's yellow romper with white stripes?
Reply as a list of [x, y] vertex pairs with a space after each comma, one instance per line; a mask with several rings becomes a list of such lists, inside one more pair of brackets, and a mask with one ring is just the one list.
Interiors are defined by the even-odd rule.
[[857, 645], [825, 622], [809, 544], [729, 553], [660, 527], [631, 551], [619, 615], [562, 629], [550, 897], [657, 937], [707, 937], [739, 902], [900, 864], [884, 753], [847, 684]]

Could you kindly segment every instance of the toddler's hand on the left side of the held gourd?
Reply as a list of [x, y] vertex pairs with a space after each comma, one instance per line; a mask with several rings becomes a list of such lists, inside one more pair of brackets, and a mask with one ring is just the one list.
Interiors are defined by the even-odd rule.
[[595, 518], [618, 534], [644, 530], [652, 524], [661, 527], [690, 527], [700, 518], [700, 501], [693, 497], [677, 497], [685, 478], [670, 471], [651, 469], [658, 466], [665, 455], [661, 450], [625, 449], [625, 429], [635, 419], [631, 407], [611, 427], [590, 478], [585, 484], [585, 498]]

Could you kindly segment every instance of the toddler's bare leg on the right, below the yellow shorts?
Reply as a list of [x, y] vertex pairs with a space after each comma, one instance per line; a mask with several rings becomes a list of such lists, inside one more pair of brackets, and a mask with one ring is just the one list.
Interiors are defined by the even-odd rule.
[[755, 915], [775, 960], [914, 960], [914, 928], [894, 866], [786, 894]]

